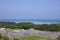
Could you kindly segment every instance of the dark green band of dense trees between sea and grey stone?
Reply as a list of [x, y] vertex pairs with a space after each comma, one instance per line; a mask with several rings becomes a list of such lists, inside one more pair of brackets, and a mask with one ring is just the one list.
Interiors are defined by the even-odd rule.
[[29, 29], [33, 28], [42, 31], [60, 31], [60, 24], [33, 24], [30, 22], [0, 22], [0, 28], [11, 28], [11, 29]]

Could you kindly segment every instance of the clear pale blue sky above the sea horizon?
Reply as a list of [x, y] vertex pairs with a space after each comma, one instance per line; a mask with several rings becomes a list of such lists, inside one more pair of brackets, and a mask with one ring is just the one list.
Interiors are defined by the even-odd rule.
[[60, 0], [0, 0], [0, 19], [60, 19]]

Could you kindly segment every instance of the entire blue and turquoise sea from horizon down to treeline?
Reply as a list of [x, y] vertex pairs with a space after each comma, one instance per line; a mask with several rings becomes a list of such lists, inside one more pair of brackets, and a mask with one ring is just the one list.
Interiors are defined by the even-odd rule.
[[31, 22], [33, 24], [60, 24], [60, 19], [0, 19], [0, 22]]

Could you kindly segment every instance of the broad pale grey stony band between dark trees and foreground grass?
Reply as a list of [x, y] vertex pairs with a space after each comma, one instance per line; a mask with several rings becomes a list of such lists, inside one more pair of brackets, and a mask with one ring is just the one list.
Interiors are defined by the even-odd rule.
[[47, 31], [38, 31], [38, 30], [0, 30], [0, 34], [2, 36], [7, 36], [9, 38], [26, 38], [30, 36], [38, 36], [38, 37], [44, 37], [44, 38], [51, 38], [56, 39], [60, 32], [47, 32]]

